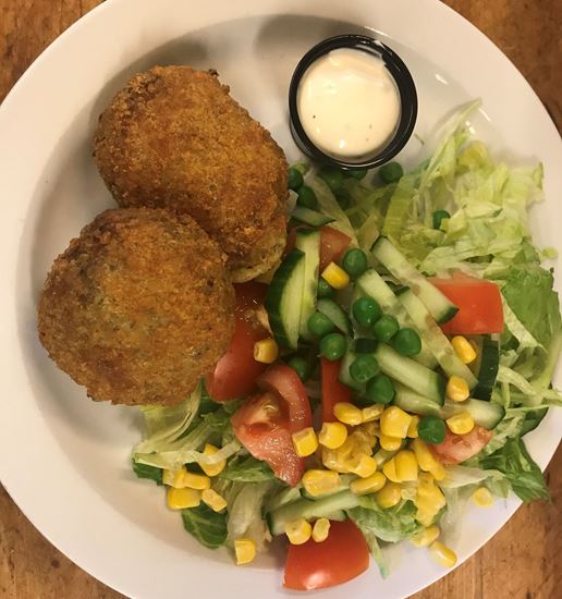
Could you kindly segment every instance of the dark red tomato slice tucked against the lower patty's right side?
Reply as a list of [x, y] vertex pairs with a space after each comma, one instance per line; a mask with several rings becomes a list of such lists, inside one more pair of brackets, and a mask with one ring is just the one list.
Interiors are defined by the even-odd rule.
[[220, 358], [215, 372], [206, 378], [207, 391], [218, 402], [244, 398], [257, 389], [256, 379], [267, 368], [254, 359], [254, 343], [268, 337], [259, 323], [256, 309], [264, 303], [267, 285], [244, 283], [234, 285], [236, 325], [227, 353]]

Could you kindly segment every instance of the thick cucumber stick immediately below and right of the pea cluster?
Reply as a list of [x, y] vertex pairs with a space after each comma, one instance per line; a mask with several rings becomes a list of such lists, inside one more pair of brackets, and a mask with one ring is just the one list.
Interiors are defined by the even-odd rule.
[[436, 404], [443, 405], [445, 381], [441, 375], [410, 357], [401, 356], [386, 343], [380, 343], [372, 355], [384, 375], [417, 391]]

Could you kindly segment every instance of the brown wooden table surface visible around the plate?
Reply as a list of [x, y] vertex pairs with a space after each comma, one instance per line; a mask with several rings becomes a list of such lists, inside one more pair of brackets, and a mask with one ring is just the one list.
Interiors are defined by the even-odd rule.
[[[134, 10], [134, 0], [130, 1]], [[0, 0], [0, 101], [57, 36], [99, 3], [100, 0]], [[447, 0], [447, 3], [510, 57], [561, 130], [562, 2]], [[562, 597], [562, 448], [547, 470], [547, 480], [551, 503], [522, 508], [471, 560], [415, 598]], [[37, 492], [40, 494], [40, 489]], [[0, 487], [0, 598], [66, 597], [122, 596], [57, 551]]]

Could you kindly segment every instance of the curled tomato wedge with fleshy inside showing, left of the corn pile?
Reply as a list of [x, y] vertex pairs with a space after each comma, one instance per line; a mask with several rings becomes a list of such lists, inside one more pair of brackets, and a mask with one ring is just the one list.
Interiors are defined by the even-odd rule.
[[246, 400], [231, 418], [234, 433], [254, 457], [294, 487], [303, 477], [305, 460], [296, 454], [292, 433], [313, 425], [306, 390], [283, 364], [268, 368], [257, 383], [262, 393]]

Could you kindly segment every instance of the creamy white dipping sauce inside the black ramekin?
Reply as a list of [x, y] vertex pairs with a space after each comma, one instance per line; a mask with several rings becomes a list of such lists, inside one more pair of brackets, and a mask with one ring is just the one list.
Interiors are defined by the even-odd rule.
[[335, 158], [359, 158], [390, 140], [400, 120], [400, 94], [382, 59], [339, 48], [305, 71], [297, 109], [318, 149]]

